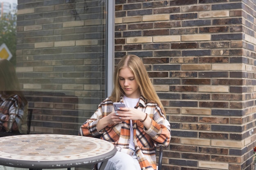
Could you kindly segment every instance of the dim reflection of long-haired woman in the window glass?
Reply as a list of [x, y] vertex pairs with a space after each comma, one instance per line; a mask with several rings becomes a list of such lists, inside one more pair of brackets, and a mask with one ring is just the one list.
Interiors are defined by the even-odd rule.
[[26, 107], [15, 67], [8, 60], [0, 59], [0, 133], [22, 133]]

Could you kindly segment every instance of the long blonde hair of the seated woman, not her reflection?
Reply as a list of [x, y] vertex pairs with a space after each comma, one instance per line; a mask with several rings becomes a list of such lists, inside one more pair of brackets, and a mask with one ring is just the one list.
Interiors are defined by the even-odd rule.
[[132, 71], [135, 81], [139, 86], [141, 95], [148, 100], [148, 102], [155, 102], [158, 104], [162, 113], [165, 115], [164, 107], [149, 79], [148, 72], [146, 71], [142, 60], [137, 55], [125, 55], [117, 64], [114, 73], [114, 89], [110, 96], [112, 102], [119, 102], [120, 97], [124, 95], [124, 91], [118, 81], [119, 71], [124, 67], [128, 67], [130, 71]]

